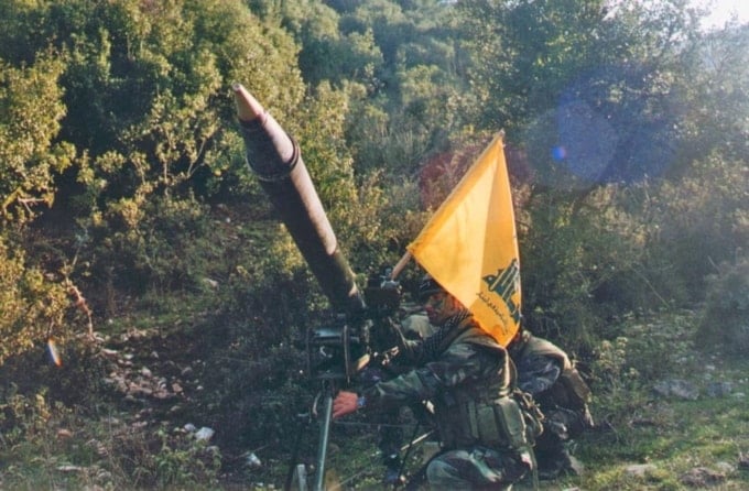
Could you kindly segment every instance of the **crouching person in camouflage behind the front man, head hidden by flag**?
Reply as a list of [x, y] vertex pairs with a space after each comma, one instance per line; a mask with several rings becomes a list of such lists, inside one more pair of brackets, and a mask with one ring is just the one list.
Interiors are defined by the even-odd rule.
[[539, 478], [579, 473], [569, 455], [572, 439], [593, 427], [588, 411], [590, 389], [560, 347], [521, 328], [508, 346], [518, 370], [518, 386], [528, 392], [544, 414], [543, 434], [535, 441]]

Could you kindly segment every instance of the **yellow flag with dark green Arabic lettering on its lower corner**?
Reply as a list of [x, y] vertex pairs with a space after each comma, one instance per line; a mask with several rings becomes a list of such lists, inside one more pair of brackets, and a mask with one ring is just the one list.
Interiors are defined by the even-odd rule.
[[497, 341], [520, 324], [520, 262], [502, 133], [406, 247]]

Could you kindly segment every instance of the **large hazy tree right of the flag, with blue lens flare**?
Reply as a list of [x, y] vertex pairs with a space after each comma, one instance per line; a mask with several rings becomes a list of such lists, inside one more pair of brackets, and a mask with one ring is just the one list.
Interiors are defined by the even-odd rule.
[[682, 0], [458, 9], [469, 113], [508, 130], [522, 171], [527, 305], [584, 338], [637, 306], [698, 301], [706, 258], [725, 260], [741, 229], [726, 212], [742, 208], [741, 31], [705, 36]]

